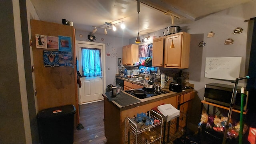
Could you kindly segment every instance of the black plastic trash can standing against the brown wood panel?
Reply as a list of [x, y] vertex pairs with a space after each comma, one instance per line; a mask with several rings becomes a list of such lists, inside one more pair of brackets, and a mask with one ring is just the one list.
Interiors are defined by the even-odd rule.
[[38, 132], [41, 144], [73, 144], [74, 105], [48, 108], [38, 112]]

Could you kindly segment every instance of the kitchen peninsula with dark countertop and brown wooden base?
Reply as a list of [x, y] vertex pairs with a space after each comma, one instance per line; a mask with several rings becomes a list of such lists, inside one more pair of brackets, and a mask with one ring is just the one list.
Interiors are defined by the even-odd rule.
[[184, 92], [176, 93], [168, 89], [166, 94], [160, 94], [149, 98], [136, 98], [131, 94], [121, 91], [115, 98], [111, 93], [102, 94], [104, 97], [104, 121], [105, 136], [108, 144], [124, 143], [124, 126], [126, 117], [134, 117], [138, 113], [146, 113], [160, 104], [172, 104], [178, 108], [179, 104], [194, 98], [194, 89], [188, 89]]

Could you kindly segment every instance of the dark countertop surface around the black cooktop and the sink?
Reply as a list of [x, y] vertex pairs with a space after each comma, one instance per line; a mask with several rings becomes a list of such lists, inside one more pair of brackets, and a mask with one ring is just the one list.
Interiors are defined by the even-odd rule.
[[[132, 80], [128, 80], [128, 79], [125, 79], [125, 78], [120, 78], [120, 77], [116, 77], [116, 78], [119, 78], [119, 79], [122, 79], [122, 80], [125, 80], [125, 81], [128, 81], [128, 82], [132, 82], [132, 83], [135, 83], [135, 84], [140, 84], [142, 85], [141, 83], [138, 83], [138, 82], [135, 82], [135, 81], [132, 81]], [[116, 97], [111, 97], [111, 93], [110, 92], [106, 92], [104, 94], [102, 94], [105, 98], [107, 98], [107, 100], [109, 100], [110, 102], [112, 102], [117, 108], [119, 108], [120, 111], [122, 110], [127, 110], [127, 109], [130, 109], [130, 108], [134, 108], [134, 107], [137, 107], [137, 106], [142, 106], [144, 104], [149, 104], [149, 103], [152, 103], [152, 102], [156, 102], [156, 101], [159, 101], [159, 100], [164, 100], [166, 98], [171, 98], [173, 96], [178, 96], [178, 95], [182, 95], [182, 94], [186, 94], [186, 93], [189, 93], [189, 92], [193, 92], [194, 89], [193, 88], [190, 88], [190, 89], [187, 89], [187, 90], [184, 90], [182, 92], [172, 92], [169, 90], [169, 88], [162, 88], [163, 91], [166, 91], [168, 93], [166, 94], [160, 94], [158, 96], [153, 96], [153, 97], [150, 97], [150, 98], [144, 98], [144, 99], [140, 99], [140, 98], [137, 98], [135, 96], [132, 96], [131, 94], [128, 94], [126, 93], [124, 90], [122, 90], [120, 92], [120, 94], [117, 94]], [[126, 104], [121, 104], [120, 101], [126, 101]]]

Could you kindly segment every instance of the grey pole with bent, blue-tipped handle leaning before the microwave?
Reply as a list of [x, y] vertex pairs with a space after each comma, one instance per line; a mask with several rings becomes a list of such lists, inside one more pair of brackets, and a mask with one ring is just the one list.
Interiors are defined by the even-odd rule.
[[230, 118], [231, 118], [233, 105], [234, 105], [234, 102], [236, 100], [236, 93], [237, 93], [236, 89], [237, 89], [238, 81], [239, 80], [244, 80], [244, 79], [249, 79], [249, 78], [250, 78], [249, 76], [244, 76], [244, 77], [241, 77], [241, 78], [236, 78], [236, 80], [233, 82], [235, 84], [234, 84], [234, 88], [233, 88], [233, 92], [232, 92], [230, 107], [229, 107], [229, 111], [228, 111], [228, 120], [227, 120], [227, 123], [226, 123], [226, 126], [225, 126], [225, 132], [224, 132], [224, 137], [223, 137], [222, 144], [226, 144], [226, 139], [227, 139], [227, 135], [228, 135], [228, 128], [229, 128], [229, 121], [230, 121]]

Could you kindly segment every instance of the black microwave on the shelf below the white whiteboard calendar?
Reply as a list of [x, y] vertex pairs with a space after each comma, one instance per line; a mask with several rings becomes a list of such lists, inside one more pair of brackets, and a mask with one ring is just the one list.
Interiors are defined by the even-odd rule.
[[[210, 83], [205, 84], [204, 89], [204, 100], [208, 102], [212, 102], [215, 104], [223, 105], [223, 106], [230, 106], [232, 94], [233, 94], [234, 86], [228, 84], [217, 84], [217, 83]], [[240, 110], [241, 106], [241, 88], [237, 86], [236, 90], [236, 100], [234, 102], [234, 109]], [[247, 103], [248, 103], [248, 91], [244, 91], [244, 110], [247, 110]]]

